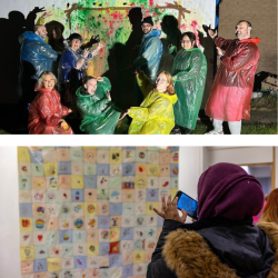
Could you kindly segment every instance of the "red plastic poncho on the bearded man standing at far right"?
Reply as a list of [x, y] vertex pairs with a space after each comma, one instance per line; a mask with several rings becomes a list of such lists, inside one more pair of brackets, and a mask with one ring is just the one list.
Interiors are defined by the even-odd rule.
[[206, 115], [222, 121], [250, 119], [250, 100], [260, 51], [260, 39], [216, 39], [225, 50], [206, 107]]

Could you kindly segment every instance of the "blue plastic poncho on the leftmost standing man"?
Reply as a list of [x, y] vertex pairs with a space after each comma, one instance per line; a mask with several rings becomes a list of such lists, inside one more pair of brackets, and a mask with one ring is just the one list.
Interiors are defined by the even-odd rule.
[[20, 60], [32, 64], [33, 79], [38, 80], [43, 71], [52, 71], [53, 61], [58, 56], [41, 37], [27, 31], [19, 37], [19, 43], [21, 44]]

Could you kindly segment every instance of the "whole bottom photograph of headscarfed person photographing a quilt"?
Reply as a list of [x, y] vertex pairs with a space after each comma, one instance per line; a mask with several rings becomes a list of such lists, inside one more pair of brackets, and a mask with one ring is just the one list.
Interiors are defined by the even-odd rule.
[[0, 147], [0, 277], [277, 277], [277, 156]]

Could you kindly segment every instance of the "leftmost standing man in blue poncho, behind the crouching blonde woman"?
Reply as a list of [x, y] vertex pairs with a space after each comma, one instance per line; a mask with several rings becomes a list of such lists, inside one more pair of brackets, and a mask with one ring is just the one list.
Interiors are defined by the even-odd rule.
[[57, 59], [57, 52], [44, 42], [47, 29], [42, 24], [34, 26], [34, 32], [27, 31], [19, 37], [21, 44], [21, 89], [22, 100], [30, 103], [37, 93], [34, 86], [43, 71], [52, 71], [53, 61]]

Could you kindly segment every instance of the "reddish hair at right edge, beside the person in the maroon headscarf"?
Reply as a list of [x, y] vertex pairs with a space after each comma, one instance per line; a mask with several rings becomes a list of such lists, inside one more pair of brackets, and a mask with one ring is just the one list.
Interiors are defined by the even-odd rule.
[[268, 196], [259, 221], [278, 222], [278, 188]]

